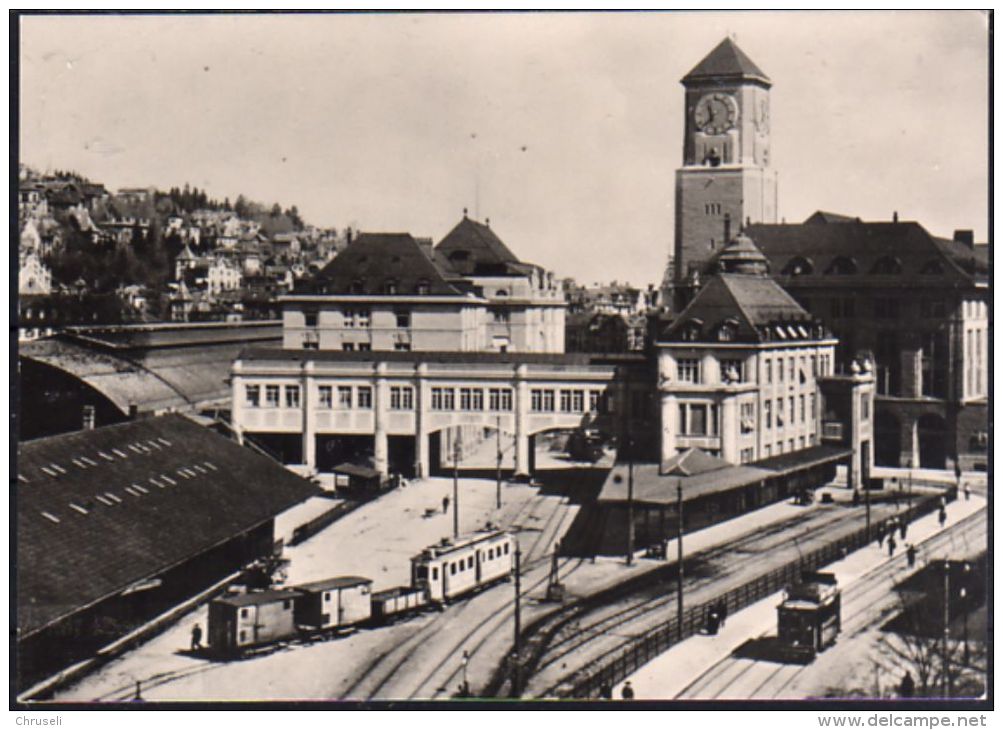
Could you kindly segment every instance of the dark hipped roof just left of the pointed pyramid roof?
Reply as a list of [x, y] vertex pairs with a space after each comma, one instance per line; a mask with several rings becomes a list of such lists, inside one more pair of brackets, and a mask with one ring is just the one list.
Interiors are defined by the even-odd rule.
[[424, 283], [430, 295], [461, 296], [447, 281], [452, 276], [410, 234], [359, 234], [320, 271], [312, 287], [319, 294], [382, 295], [393, 280], [399, 295], [414, 295]]

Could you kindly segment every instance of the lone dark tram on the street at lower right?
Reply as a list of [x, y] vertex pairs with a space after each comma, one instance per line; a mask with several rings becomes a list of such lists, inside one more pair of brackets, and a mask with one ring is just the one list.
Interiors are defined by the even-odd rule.
[[776, 607], [777, 637], [785, 656], [810, 662], [835, 643], [841, 629], [841, 599], [831, 573], [805, 573], [787, 588]]

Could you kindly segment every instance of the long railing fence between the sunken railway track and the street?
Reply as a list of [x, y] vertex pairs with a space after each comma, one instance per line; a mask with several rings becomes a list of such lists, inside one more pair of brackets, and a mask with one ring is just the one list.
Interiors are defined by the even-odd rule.
[[[952, 486], [947, 490], [944, 498], [947, 501], [954, 501], [957, 494], [957, 487]], [[875, 522], [871, 525], [871, 531], [884, 529], [887, 532], [889, 522], [896, 518], [912, 522], [918, 517], [936, 510], [940, 506], [940, 496], [923, 498], [905, 512]], [[573, 675], [569, 681], [557, 688], [557, 694], [561, 697], [599, 697], [604, 691], [611, 690], [669, 647], [699, 633], [700, 629], [705, 626], [707, 612], [713, 605], [722, 601], [726, 602], [730, 615], [776, 593], [791, 583], [795, 583], [800, 578], [802, 571], [814, 571], [846, 558], [869, 541], [868, 527], [861, 527], [828, 544], [807, 553], [796, 561], [791, 561], [738, 586], [723, 596], [717, 596], [712, 601], [692, 606], [684, 610], [682, 626], [679, 625], [678, 619], [673, 617], [648, 634], [624, 642], [619, 649], [586, 665]]]

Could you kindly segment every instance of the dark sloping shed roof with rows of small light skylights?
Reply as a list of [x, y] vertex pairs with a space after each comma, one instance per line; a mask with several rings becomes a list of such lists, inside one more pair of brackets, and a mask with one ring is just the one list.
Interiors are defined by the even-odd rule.
[[24, 635], [150, 579], [317, 493], [173, 414], [18, 445]]

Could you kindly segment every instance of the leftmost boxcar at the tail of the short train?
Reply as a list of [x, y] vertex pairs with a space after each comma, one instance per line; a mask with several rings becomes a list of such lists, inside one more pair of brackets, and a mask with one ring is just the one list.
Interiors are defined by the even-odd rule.
[[209, 646], [222, 655], [296, 636], [294, 611], [300, 594], [290, 589], [237, 594], [209, 605]]

